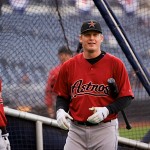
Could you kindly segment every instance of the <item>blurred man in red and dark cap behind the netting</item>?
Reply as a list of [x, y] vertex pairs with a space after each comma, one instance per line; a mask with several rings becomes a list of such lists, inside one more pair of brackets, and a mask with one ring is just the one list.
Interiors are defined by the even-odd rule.
[[62, 46], [58, 50], [58, 58], [60, 64], [55, 66], [49, 72], [46, 89], [45, 89], [45, 103], [47, 105], [47, 111], [50, 118], [56, 117], [55, 104], [56, 104], [56, 94], [53, 92], [53, 87], [56, 82], [59, 70], [61, 65], [72, 57], [72, 51], [68, 49], [66, 46]]

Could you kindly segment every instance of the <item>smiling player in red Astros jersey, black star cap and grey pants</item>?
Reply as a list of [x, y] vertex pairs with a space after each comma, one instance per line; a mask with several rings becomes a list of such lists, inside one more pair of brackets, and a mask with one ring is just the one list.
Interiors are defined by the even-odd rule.
[[[134, 96], [123, 62], [101, 50], [103, 39], [97, 21], [83, 22], [83, 52], [62, 65], [54, 86], [58, 126], [69, 129], [65, 150], [117, 150], [117, 114]], [[109, 78], [116, 81], [117, 98], [110, 95]]]

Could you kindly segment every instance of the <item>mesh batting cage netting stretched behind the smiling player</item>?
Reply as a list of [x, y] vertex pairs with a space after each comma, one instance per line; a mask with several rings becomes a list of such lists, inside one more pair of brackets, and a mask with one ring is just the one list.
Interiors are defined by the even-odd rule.
[[[76, 53], [82, 22], [95, 19], [103, 30], [102, 49], [123, 60], [135, 95], [125, 110], [132, 129], [126, 129], [119, 114], [119, 135], [150, 142], [149, 95], [92, 0], [3, 0], [0, 3], [0, 76], [5, 107], [49, 117], [45, 88], [49, 71], [59, 64], [58, 49], [65, 45]], [[149, 0], [107, 0], [107, 3], [149, 74]], [[21, 133], [20, 128], [15, 128], [15, 120], [13, 128], [11, 122], [9, 126]], [[55, 136], [59, 135], [56, 132]], [[24, 143], [23, 138], [10, 136], [16, 139], [15, 144]], [[51, 139], [47, 141], [50, 143]], [[27, 143], [27, 149], [33, 144]]]

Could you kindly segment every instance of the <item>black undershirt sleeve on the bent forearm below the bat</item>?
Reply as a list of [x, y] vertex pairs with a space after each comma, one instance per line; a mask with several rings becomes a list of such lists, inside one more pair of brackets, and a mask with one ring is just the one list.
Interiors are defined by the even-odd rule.
[[118, 113], [119, 111], [129, 106], [131, 101], [131, 96], [120, 97], [114, 103], [106, 106], [106, 108], [109, 110], [109, 114]]

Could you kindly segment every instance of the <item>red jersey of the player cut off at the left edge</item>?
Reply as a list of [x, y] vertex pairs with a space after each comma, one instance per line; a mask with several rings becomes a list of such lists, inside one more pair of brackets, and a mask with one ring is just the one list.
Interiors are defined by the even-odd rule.
[[1, 80], [0, 80], [0, 127], [5, 127], [7, 124], [7, 120], [4, 113], [3, 99], [1, 96]]

